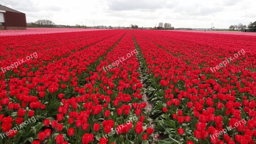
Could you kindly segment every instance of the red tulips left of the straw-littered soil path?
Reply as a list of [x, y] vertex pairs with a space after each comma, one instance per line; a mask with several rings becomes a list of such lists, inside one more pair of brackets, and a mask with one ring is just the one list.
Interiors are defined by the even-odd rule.
[[[59, 44], [55, 42], [57, 34], [41, 36], [43, 40], [38, 44], [31, 40], [35, 36], [26, 36], [27, 41], [32, 41], [27, 44], [27, 52], [13, 50], [17, 58], [22, 58], [39, 46], [37, 59], [2, 73], [0, 121], [1, 130], [7, 134], [2, 141], [57, 144], [151, 141], [153, 129], [147, 128], [148, 120], [143, 116], [147, 104], [141, 101], [136, 53], [118, 66], [103, 70], [135, 50], [131, 31], [99, 31], [102, 37], [96, 34], [91, 43], [84, 41], [91, 34], [79, 33], [76, 34], [82, 36], [81, 41], [68, 33], [71, 35]], [[69, 37], [72, 39], [68, 40]], [[10, 45], [14, 43], [3, 47]], [[1, 66], [12, 64], [12, 56], [11, 59], [3, 56]], [[26, 124], [32, 118], [35, 121]]]

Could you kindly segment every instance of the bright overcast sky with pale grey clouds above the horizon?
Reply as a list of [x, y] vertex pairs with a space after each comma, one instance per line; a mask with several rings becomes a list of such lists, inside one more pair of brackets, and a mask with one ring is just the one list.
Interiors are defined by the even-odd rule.
[[0, 0], [26, 13], [27, 22], [154, 27], [169, 22], [175, 28], [228, 28], [256, 20], [252, 0]]

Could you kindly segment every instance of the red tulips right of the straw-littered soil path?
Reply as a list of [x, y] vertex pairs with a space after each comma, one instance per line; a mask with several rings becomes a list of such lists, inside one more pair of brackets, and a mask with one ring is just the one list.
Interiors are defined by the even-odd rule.
[[[143, 55], [147, 93], [156, 101], [156, 131], [165, 138], [157, 143], [254, 143], [255, 42], [234, 41], [253, 36], [133, 33]], [[245, 55], [219, 71], [210, 70], [241, 49]]]

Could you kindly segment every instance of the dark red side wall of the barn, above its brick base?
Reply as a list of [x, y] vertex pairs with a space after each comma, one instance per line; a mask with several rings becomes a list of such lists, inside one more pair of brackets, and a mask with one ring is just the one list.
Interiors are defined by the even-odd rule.
[[27, 27], [25, 13], [7, 12], [4, 13], [6, 27]]

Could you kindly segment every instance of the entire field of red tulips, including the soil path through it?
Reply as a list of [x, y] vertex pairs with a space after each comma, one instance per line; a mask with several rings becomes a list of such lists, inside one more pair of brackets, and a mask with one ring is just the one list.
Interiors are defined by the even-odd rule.
[[255, 36], [40, 30], [0, 34], [0, 144], [256, 142]]

